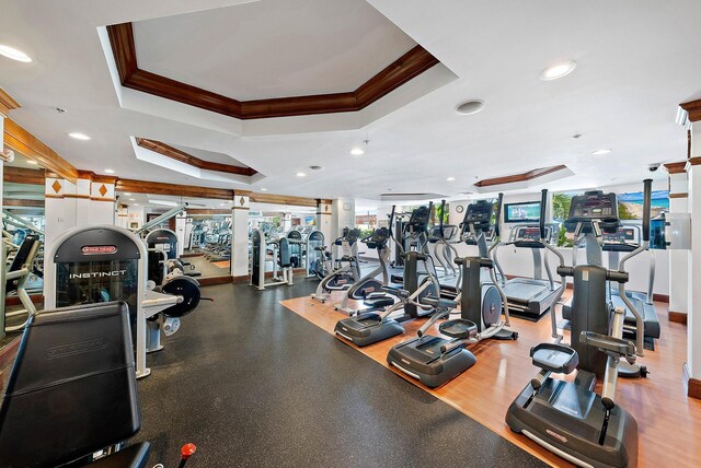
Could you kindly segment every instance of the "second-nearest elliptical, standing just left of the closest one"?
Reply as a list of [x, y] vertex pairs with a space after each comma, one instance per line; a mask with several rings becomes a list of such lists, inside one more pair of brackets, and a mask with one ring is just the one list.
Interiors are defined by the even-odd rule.
[[[503, 195], [497, 200], [499, 219]], [[493, 204], [490, 204], [490, 210]], [[476, 362], [476, 358], [464, 349], [467, 344], [476, 343], [487, 338], [515, 340], [518, 334], [509, 331], [508, 306], [504, 291], [494, 273], [494, 262], [489, 257], [489, 247], [484, 236], [484, 229], [489, 229], [491, 217], [484, 223], [484, 204], [470, 204], [467, 209], [464, 223], [473, 233], [479, 250], [487, 253], [486, 257], [457, 258], [456, 264], [461, 268], [460, 293], [456, 301], [440, 297], [424, 297], [422, 303], [433, 305], [436, 313], [417, 331], [417, 337], [392, 347], [387, 355], [387, 362], [394, 368], [410, 377], [416, 378], [427, 387], [435, 388], [446, 384]], [[476, 226], [481, 231], [478, 231]], [[494, 229], [493, 243], [498, 243], [498, 221]], [[491, 282], [482, 281], [482, 269], [490, 271]], [[450, 311], [460, 303], [460, 318], [443, 323], [439, 326], [441, 335], [427, 335], [430, 327], [441, 318], [448, 317]], [[504, 313], [505, 320], [501, 320]]]

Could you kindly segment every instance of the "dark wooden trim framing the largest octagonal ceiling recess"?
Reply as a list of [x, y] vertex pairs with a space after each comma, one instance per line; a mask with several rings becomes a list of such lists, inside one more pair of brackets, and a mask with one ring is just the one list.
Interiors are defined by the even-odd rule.
[[417, 45], [355, 91], [238, 101], [138, 68], [131, 23], [107, 26], [122, 85], [238, 119], [358, 112], [439, 63]]

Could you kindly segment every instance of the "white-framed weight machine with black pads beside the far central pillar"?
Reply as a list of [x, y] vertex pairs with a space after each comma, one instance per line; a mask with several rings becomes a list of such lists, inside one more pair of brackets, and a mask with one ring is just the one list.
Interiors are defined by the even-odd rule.
[[[252, 243], [252, 262], [251, 262], [251, 285], [263, 291], [267, 286], [278, 284], [292, 285], [292, 262], [290, 260], [289, 241], [287, 237], [280, 237], [277, 241], [267, 241], [265, 233], [257, 229], [251, 235]], [[272, 281], [265, 280], [266, 265], [268, 253], [272, 256], [273, 278]], [[278, 267], [283, 276], [278, 276]]]

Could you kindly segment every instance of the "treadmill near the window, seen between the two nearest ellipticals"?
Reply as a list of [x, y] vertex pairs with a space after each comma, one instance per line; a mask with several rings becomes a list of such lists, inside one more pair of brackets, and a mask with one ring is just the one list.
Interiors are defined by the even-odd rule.
[[[545, 224], [545, 241], [553, 244], [559, 229], [555, 224]], [[497, 250], [501, 246], [513, 245], [516, 248], [529, 248], [533, 257], [533, 277], [514, 278], [507, 280], [501, 276], [502, 289], [508, 300], [512, 312], [538, 320], [550, 309], [560, 284], [553, 281], [550, 264], [548, 262], [548, 249], [540, 242], [540, 227], [538, 225], [516, 225], [512, 229], [508, 242], [498, 244], [494, 249], [494, 262], [498, 265]], [[541, 256], [541, 251], [543, 255]], [[545, 266], [548, 279], [543, 279], [542, 266]], [[498, 268], [501, 271], [501, 267]]]

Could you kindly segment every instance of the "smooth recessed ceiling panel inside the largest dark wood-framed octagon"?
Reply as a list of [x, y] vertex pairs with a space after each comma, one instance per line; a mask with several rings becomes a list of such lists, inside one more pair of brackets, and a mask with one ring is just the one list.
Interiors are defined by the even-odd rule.
[[348, 0], [145, 20], [134, 39], [139, 68], [240, 101], [353, 91], [416, 45], [367, 2]]

